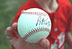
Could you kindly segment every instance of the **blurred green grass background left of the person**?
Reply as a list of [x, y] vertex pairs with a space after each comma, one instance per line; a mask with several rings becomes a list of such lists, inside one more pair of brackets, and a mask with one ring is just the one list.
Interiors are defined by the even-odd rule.
[[[12, 20], [19, 7], [27, 0], [0, 0], [0, 49], [11, 49], [11, 44], [6, 39], [5, 29], [11, 26]], [[70, 0], [72, 2], [72, 0]], [[66, 45], [66, 48], [69, 47]]]

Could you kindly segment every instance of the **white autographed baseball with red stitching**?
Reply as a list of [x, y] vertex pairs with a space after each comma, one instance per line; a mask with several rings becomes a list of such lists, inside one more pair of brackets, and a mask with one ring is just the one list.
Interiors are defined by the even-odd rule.
[[18, 19], [18, 33], [26, 42], [37, 43], [46, 38], [51, 31], [49, 15], [39, 9], [23, 10]]

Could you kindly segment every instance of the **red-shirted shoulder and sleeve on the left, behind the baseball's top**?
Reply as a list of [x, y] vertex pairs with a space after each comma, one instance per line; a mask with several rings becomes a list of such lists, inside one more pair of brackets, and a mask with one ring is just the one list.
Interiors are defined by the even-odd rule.
[[17, 22], [18, 18], [20, 17], [20, 14], [22, 12], [22, 10], [27, 10], [33, 7], [37, 7], [38, 5], [36, 4], [36, 2], [34, 0], [28, 0], [27, 2], [25, 2], [18, 10], [13, 22]]

